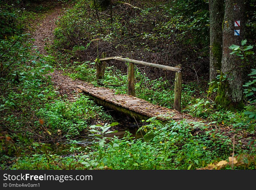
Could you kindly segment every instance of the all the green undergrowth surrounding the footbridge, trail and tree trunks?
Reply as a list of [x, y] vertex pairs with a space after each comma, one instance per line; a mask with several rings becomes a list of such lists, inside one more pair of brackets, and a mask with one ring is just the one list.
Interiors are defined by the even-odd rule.
[[[179, 3], [182, 1], [175, 1], [173, 8], [180, 6]], [[138, 6], [142, 5], [138, 2]], [[255, 71], [252, 70], [249, 75], [251, 81], [245, 84], [245, 99], [250, 100], [245, 109], [241, 112], [217, 109], [215, 102], [207, 96], [207, 85], [200, 86], [204, 84], [204, 78], [195, 72], [199, 68], [191, 64], [202, 64], [207, 59], [204, 42], [208, 39], [204, 37], [208, 30], [208, 13], [202, 10], [191, 17], [177, 15], [170, 19], [177, 12], [167, 5], [158, 5], [153, 3], [151, 7], [145, 6], [138, 11], [116, 4], [118, 9], [114, 11], [122, 10], [122, 14], [116, 14], [113, 25], [109, 26], [106, 13], [100, 13], [99, 21], [88, 1], [79, 1], [75, 9], [60, 18], [55, 30], [55, 44], [49, 49], [52, 55], [44, 56], [32, 51], [31, 34], [22, 33], [32, 30], [24, 28], [24, 25], [35, 19], [34, 12], [26, 12], [29, 11], [26, 8], [19, 12], [10, 3], [1, 4], [4, 11], [0, 15], [6, 19], [1, 21], [4, 27], [1, 28], [0, 43], [1, 169], [255, 169], [255, 99], [251, 99], [252, 92], [255, 92]], [[204, 5], [201, 2], [197, 7], [203, 9]], [[40, 5], [33, 10], [40, 12], [46, 9]], [[6, 17], [8, 12], [9, 17]], [[127, 12], [130, 16], [124, 20], [122, 15]], [[27, 14], [29, 17], [26, 18]], [[157, 14], [163, 17], [157, 17]], [[183, 19], [181, 23], [179, 19]], [[143, 24], [147, 20], [151, 20], [152, 25]], [[188, 23], [190, 21], [193, 22]], [[136, 26], [137, 22], [140, 24]], [[188, 28], [191, 27], [193, 30], [190, 31]], [[192, 32], [200, 28], [203, 30], [197, 34], [197, 41], [189, 40], [193, 39]], [[143, 43], [140, 43], [141, 39]], [[166, 41], [160, 44], [157, 43], [159, 39]], [[198, 43], [200, 47], [193, 48], [195, 56], [191, 59], [189, 54], [180, 53], [174, 39], [180, 40], [185, 50]], [[113, 41], [116, 43], [111, 44]], [[107, 138], [106, 134], [112, 133], [109, 130], [117, 123], [112, 123], [113, 118], [103, 107], [82, 94], [77, 94], [74, 101], [68, 101], [47, 76], [58, 68], [71, 78], [97, 86], [94, 60], [106, 47], [110, 50], [108, 56], [120, 50], [130, 58], [134, 56], [159, 64], [167, 60], [170, 66], [179, 65], [172, 63], [173, 57], [185, 62], [183, 66], [193, 71], [193, 74], [188, 72], [187, 77], [196, 80], [182, 85], [182, 113], [189, 113], [199, 121], [172, 120], [163, 124], [156, 118], [150, 118], [138, 129], [144, 134], [141, 139], [133, 138], [128, 131], [123, 138]], [[163, 52], [163, 49], [167, 51]], [[187, 51], [182, 49], [181, 52]], [[155, 57], [164, 59], [159, 61]], [[116, 66], [107, 66], [102, 83], [118, 94], [126, 94], [127, 64]], [[166, 77], [163, 72], [150, 72], [135, 67], [136, 96], [173, 108], [172, 75], [167, 73]], [[93, 138], [93, 143], [87, 147], [77, 146], [75, 139], [89, 133], [97, 137]], [[56, 154], [63, 139], [71, 144], [63, 145], [66, 149], [68, 147], [65, 155]], [[228, 160], [233, 153], [238, 160], [234, 167], [227, 161], [223, 165], [215, 164]]]

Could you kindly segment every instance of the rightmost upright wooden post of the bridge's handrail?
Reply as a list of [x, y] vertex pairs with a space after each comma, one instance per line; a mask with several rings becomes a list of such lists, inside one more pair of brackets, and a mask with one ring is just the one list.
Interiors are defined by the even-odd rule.
[[174, 109], [180, 112], [181, 110], [181, 84], [182, 84], [182, 72], [176, 72], [175, 85], [174, 85]]

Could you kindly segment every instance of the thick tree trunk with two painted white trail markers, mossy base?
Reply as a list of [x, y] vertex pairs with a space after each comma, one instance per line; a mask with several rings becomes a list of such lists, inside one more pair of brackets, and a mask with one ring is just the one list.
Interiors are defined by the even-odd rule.
[[243, 67], [242, 60], [230, 55], [230, 45], [241, 45], [245, 27], [244, 0], [229, 0], [225, 3], [223, 22], [223, 54], [221, 78], [216, 103], [226, 109], [243, 108]]

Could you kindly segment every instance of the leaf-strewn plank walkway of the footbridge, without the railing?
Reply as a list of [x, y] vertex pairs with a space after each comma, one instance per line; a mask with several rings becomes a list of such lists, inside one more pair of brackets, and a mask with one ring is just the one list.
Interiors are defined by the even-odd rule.
[[127, 94], [115, 94], [113, 89], [94, 87], [89, 84], [84, 85], [85, 86], [77, 85], [77, 87], [91, 97], [94, 97], [94, 99], [98, 102], [100, 101], [99, 104], [114, 108], [117, 111], [127, 112], [131, 115], [136, 113], [137, 115], [139, 114], [141, 116], [145, 116], [145, 118], [156, 117], [157, 119], [163, 121], [172, 119], [181, 120], [182, 118], [189, 119], [191, 117], [173, 109], [154, 105], [134, 96], [129, 96]]

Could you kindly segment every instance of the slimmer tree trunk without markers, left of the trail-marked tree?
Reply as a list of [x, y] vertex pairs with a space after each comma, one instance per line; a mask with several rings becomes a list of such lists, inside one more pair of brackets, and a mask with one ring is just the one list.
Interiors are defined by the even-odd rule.
[[221, 71], [222, 58], [222, 23], [224, 17], [224, 0], [210, 0], [210, 85], [209, 94], [218, 88], [216, 76]]

